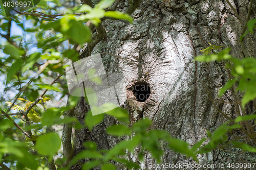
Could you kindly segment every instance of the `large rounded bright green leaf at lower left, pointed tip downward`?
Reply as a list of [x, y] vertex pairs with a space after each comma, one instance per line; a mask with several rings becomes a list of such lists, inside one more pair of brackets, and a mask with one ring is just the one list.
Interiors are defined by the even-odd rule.
[[59, 136], [56, 133], [48, 133], [37, 138], [35, 148], [39, 154], [49, 156], [51, 160], [52, 156], [60, 149], [60, 145]]

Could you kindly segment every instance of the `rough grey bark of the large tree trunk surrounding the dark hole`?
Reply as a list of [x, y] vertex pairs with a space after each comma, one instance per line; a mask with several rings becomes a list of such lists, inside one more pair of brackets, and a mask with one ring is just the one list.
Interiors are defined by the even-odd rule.
[[[250, 2], [229, 2], [243, 22]], [[125, 11], [128, 7], [129, 1], [125, 1], [117, 9]], [[251, 19], [256, 18], [255, 9], [254, 1]], [[127, 100], [120, 106], [129, 110], [132, 123], [148, 117], [153, 120], [152, 129], [164, 129], [173, 137], [193, 145], [206, 137], [205, 129], [214, 131], [227, 120], [209, 100], [207, 90], [220, 110], [232, 118], [237, 116], [230, 91], [218, 98], [218, 90], [228, 80], [224, 65], [193, 61], [195, 56], [202, 54], [200, 50], [208, 47], [208, 42], [231, 47], [231, 55], [238, 58], [246, 53], [256, 57], [255, 34], [246, 36], [244, 52], [239, 43], [243, 25], [226, 0], [144, 0], [132, 16], [133, 25], [123, 20], [104, 20], [102, 26], [106, 38], [99, 41], [91, 52], [119, 56], [101, 55], [106, 72], [121, 71], [124, 75]], [[145, 76], [147, 71], [150, 73]], [[151, 87], [150, 98], [143, 103], [137, 102], [129, 91], [137, 82], [148, 83]], [[251, 109], [255, 108], [251, 106]], [[89, 106], [81, 99], [75, 109], [75, 116], [81, 123], [88, 110]], [[95, 141], [99, 149], [112, 148], [119, 140], [104, 130], [114, 123], [114, 118], [105, 116], [104, 122], [92, 132], [77, 130], [74, 154], [84, 149], [82, 143], [87, 140]], [[127, 154], [127, 158], [139, 162], [138, 152]], [[235, 155], [220, 150], [198, 156], [202, 164], [255, 162], [255, 157], [255, 154]], [[168, 149], [165, 149], [162, 160], [171, 164], [193, 163]], [[145, 154], [144, 161], [139, 163], [141, 169], [153, 169], [148, 164], [155, 161], [150, 154]], [[79, 169], [80, 166], [73, 168]]]

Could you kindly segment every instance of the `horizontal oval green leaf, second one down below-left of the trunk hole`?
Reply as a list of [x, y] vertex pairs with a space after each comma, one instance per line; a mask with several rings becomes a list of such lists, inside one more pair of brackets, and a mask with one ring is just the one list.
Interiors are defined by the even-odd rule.
[[123, 136], [130, 135], [131, 129], [126, 127], [125, 125], [113, 125], [106, 129], [106, 132], [108, 132], [111, 135]]

